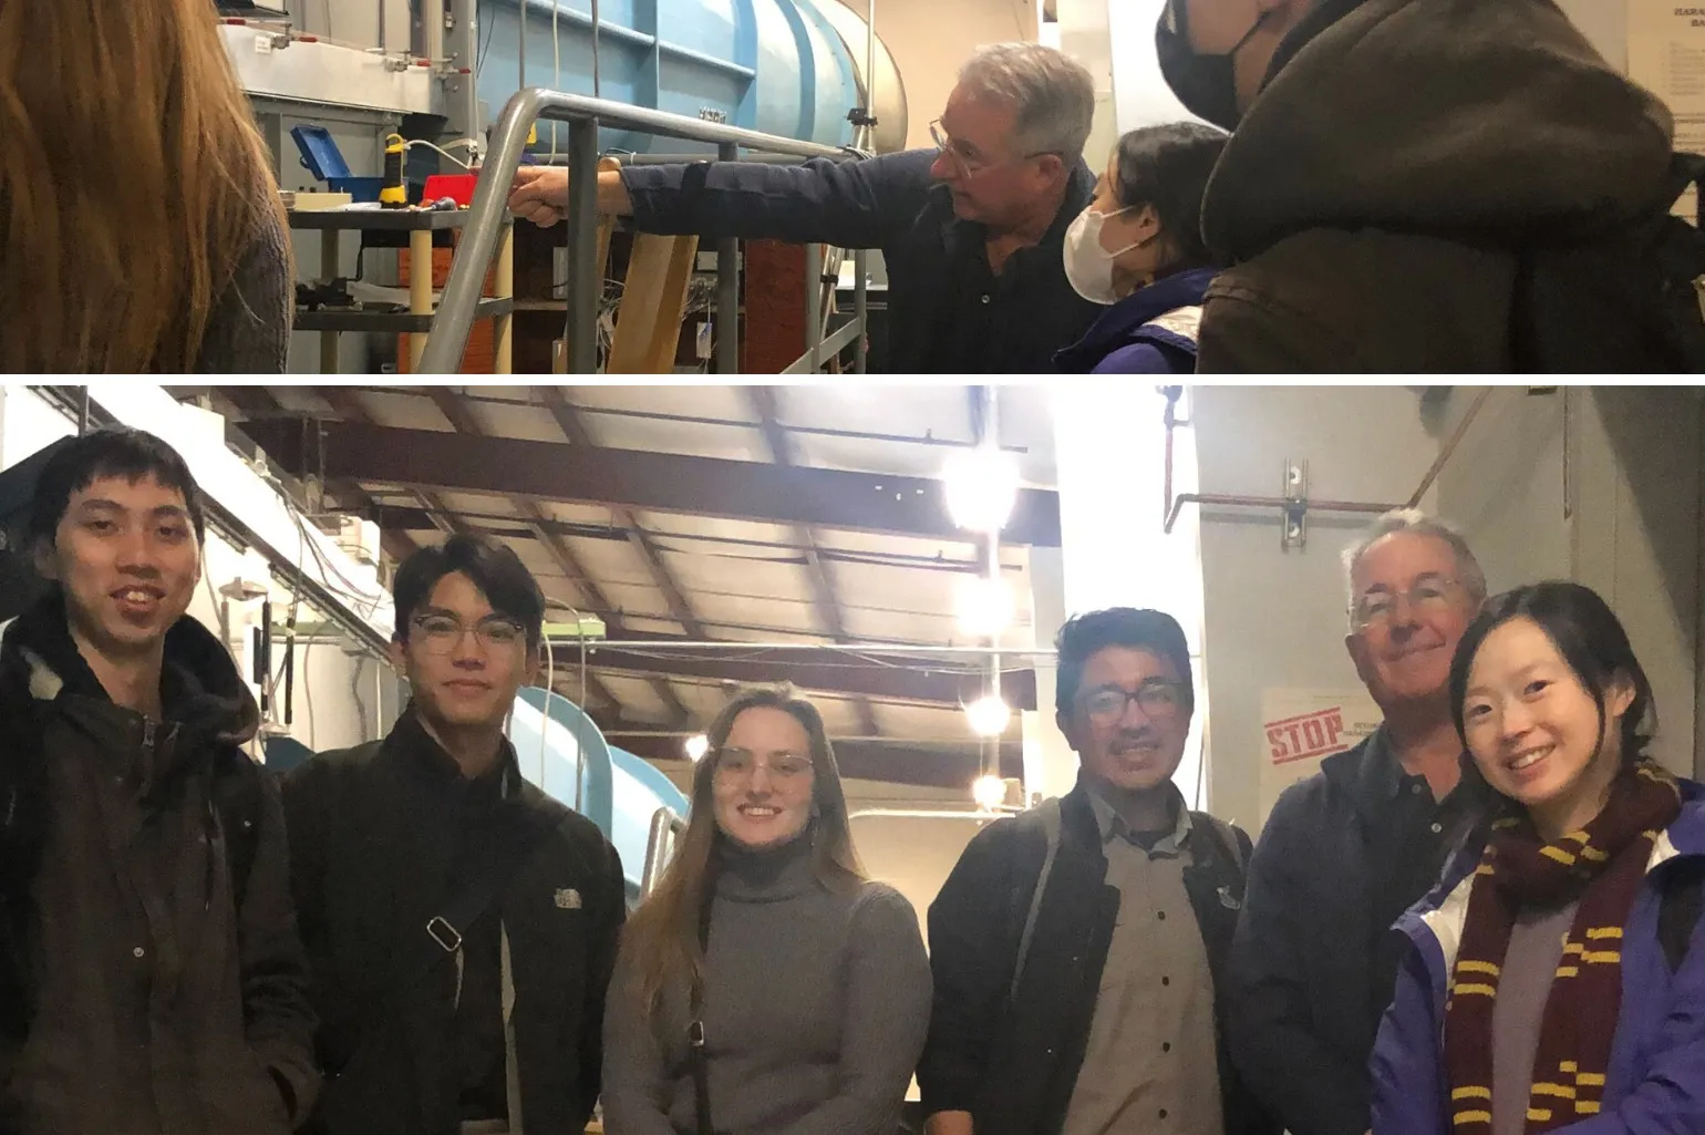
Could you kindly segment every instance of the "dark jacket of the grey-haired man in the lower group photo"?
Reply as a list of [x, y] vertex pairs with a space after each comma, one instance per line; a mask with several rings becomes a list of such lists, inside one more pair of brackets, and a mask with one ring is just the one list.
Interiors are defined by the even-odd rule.
[[1280, 792], [1250, 861], [1231, 948], [1231, 1053], [1292, 1135], [1367, 1130], [1367, 1055], [1402, 958], [1391, 922], [1425, 893], [1379, 893], [1393, 878], [1379, 857], [1393, 854], [1381, 840], [1398, 782], [1376, 731]]

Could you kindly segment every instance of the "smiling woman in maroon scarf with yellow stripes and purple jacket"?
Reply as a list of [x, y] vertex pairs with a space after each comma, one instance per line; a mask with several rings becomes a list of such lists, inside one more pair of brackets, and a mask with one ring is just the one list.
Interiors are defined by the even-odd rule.
[[1698, 1080], [1678, 1070], [1705, 1048], [1705, 949], [1674, 898], [1693, 886], [1696, 920], [1705, 791], [1645, 758], [1650, 683], [1621, 622], [1579, 583], [1499, 595], [1449, 697], [1502, 801], [1400, 922], [1413, 946], [1374, 1050], [1373, 1130], [1538, 1135], [1633, 1099], [1698, 1130]]

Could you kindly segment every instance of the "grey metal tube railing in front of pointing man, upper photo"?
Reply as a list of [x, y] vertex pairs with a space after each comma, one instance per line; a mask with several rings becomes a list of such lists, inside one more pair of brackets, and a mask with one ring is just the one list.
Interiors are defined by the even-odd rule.
[[[431, 334], [426, 351], [421, 354], [421, 373], [448, 375], [455, 373], [467, 346], [467, 334], [474, 326], [474, 308], [479, 303], [479, 291], [491, 266], [491, 257], [498, 249], [498, 237], [503, 230], [505, 211], [508, 208], [510, 184], [522, 160], [522, 147], [527, 143], [527, 131], [535, 119], [554, 119], [568, 123], [568, 322], [566, 353], [569, 373], [588, 375], [598, 366], [597, 319], [598, 300], [604, 281], [598, 279], [597, 240], [598, 240], [598, 126], [621, 126], [665, 138], [684, 138], [687, 141], [706, 141], [718, 148], [718, 160], [738, 160], [742, 148], [766, 153], [786, 153], [793, 157], [827, 157], [827, 158], [861, 158], [852, 148], [835, 148], [815, 141], [800, 141], [779, 135], [764, 135], [755, 130], [740, 130], [721, 123], [708, 123], [684, 114], [651, 111], [626, 102], [609, 99], [588, 99], [585, 95], [527, 87], [517, 90], [505, 104], [491, 130], [491, 147], [486, 164], [479, 170], [479, 182], [474, 187], [474, 205], [462, 230], [462, 244], [450, 261], [450, 278], [443, 286], [443, 298], [433, 315]], [[716, 242], [716, 370], [731, 375], [740, 370], [740, 242], [725, 239]], [[852, 252], [854, 264], [854, 315], [852, 322], [835, 331], [830, 341], [846, 344], [847, 337], [864, 336], [864, 252]], [[818, 297], [822, 283], [817, 273], [806, 269], [808, 298]], [[813, 320], [815, 322], [815, 320]], [[858, 327], [858, 331], [851, 331]], [[822, 326], [817, 326], [815, 337], [808, 331], [805, 361], [812, 370], [829, 358], [832, 351], [822, 339]], [[863, 370], [864, 353], [858, 354], [858, 366]], [[795, 363], [800, 366], [800, 363]], [[791, 368], [789, 368], [791, 370]]]

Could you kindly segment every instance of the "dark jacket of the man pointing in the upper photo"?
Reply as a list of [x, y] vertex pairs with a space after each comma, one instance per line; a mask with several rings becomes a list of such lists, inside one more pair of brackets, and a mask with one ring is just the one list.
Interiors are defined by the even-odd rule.
[[1095, 196], [1081, 160], [1042, 242], [989, 274], [985, 230], [953, 215], [929, 174], [934, 150], [803, 165], [631, 165], [622, 184], [644, 232], [881, 249], [888, 268], [887, 372], [1043, 373], [1101, 310], [1066, 281], [1066, 228]]

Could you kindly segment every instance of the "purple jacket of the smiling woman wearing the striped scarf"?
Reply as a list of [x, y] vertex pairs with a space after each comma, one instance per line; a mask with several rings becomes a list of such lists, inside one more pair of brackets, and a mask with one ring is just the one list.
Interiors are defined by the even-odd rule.
[[[1569, 1135], [1705, 1132], [1705, 941], [1695, 925], [1676, 973], [1657, 941], [1657, 874], [1673, 859], [1705, 856], [1705, 786], [1683, 781], [1681, 789], [1681, 815], [1657, 838], [1625, 927], [1621, 1014], [1604, 1077], [1604, 1109], [1562, 1128]], [[1374, 1135], [1451, 1130], [1444, 985], [1456, 963], [1477, 861], [1477, 849], [1458, 854], [1439, 888], [1396, 924], [1415, 949], [1398, 973], [1396, 997], [1374, 1045]]]

